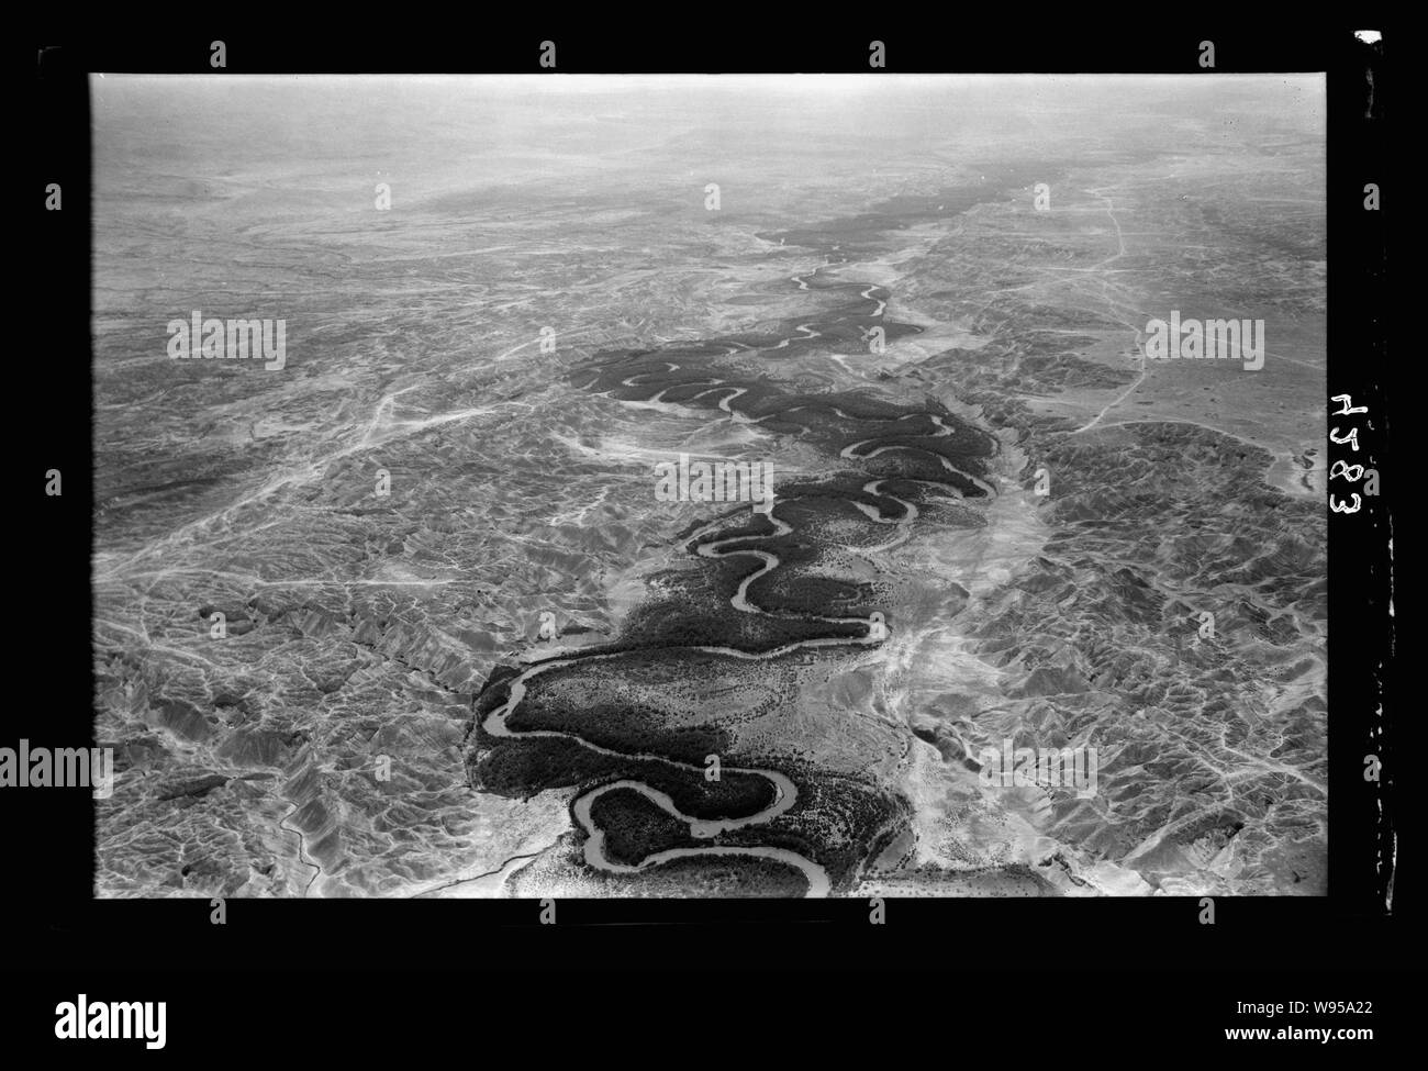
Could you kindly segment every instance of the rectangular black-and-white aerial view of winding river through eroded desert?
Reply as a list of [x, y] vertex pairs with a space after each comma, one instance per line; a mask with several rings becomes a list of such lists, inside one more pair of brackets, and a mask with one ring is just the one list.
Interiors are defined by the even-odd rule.
[[1325, 895], [1324, 74], [89, 90], [94, 897]]

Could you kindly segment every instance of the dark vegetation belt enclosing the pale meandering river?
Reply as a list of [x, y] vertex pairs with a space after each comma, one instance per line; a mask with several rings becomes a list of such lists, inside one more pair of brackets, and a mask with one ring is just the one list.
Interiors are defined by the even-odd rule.
[[[801, 393], [775, 377], [794, 356], [867, 353], [875, 327], [888, 341], [917, 333], [885, 317], [884, 287], [840, 278], [835, 264], [874, 251], [887, 230], [987, 196], [980, 187], [900, 198], [885, 211], [764, 236], [804, 247], [801, 256], [814, 247], [833, 266], [788, 280], [817, 296], [807, 317], [598, 353], [570, 373], [581, 390], [758, 424], [825, 456], [830, 474], [778, 481], [767, 514], [713, 507], [721, 516], [681, 537], [691, 568], [661, 577], [658, 597], [611, 643], [493, 671], [476, 700], [471, 783], [508, 795], [577, 787], [567, 865], [623, 881], [663, 874], [678, 887], [680, 875], [717, 863], [741, 873], [743, 891], [827, 895], [851, 888], [905, 827], [904, 800], [871, 775], [821, 767], [810, 741], [744, 748], [734, 731], [743, 713], [691, 701], [690, 683], [703, 695], [768, 684], [761, 701], [793, 703], [774, 685], [774, 663], [865, 654], [884, 643], [883, 623], [897, 627], [895, 607], [848, 568], [851, 558], [884, 555], [920, 517], [981, 523], [962, 500], [994, 494], [991, 434], [931, 400]], [[727, 367], [734, 357], [743, 373]], [[767, 361], [768, 374], [750, 374], [751, 358]], [[720, 757], [718, 780], [705, 778], [710, 755]]]

